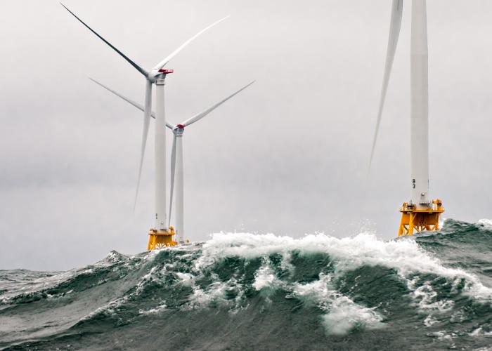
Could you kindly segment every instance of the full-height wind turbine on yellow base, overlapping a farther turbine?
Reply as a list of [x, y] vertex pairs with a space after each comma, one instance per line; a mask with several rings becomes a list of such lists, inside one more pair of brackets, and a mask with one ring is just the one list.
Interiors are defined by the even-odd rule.
[[[60, 3], [61, 4], [61, 3]], [[212, 23], [205, 29], [195, 34], [193, 37], [185, 41], [179, 48], [170, 53], [167, 58], [160, 61], [153, 67], [153, 69], [147, 70], [137, 65], [133, 60], [128, 58], [124, 53], [119, 51], [115, 46], [112, 46], [109, 41], [101, 37], [97, 32], [95, 32], [89, 25], [86, 25], [84, 21], [75, 15], [70, 9], [65, 5], [61, 4], [68, 12], [70, 12], [79, 22], [82, 23], [87, 29], [89, 29], [93, 34], [108, 44], [110, 48], [116, 51], [122, 58], [127, 60], [131, 66], [133, 66], [138, 72], [140, 72], [143, 77], [145, 77], [145, 106], [143, 110], [143, 130], [142, 130], [142, 146], [141, 146], [141, 157], [140, 164], [138, 167], [138, 178], [135, 192], [134, 209], [136, 206], [136, 199], [138, 197], [138, 187], [140, 186], [140, 179], [143, 166], [143, 157], [145, 154], [145, 144], [147, 143], [148, 128], [150, 124], [150, 113], [152, 110], [152, 86], [155, 84], [155, 99], [156, 99], [156, 111], [155, 114], [155, 227], [150, 229], [149, 235], [149, 246], [150, 241], [153, 241], [154, 246], [170, 246], [175, 245], [176, 241], [173, 241], [172, 237], [174, 231], [170, 230], [167, 223], [167, 211], [166, 211], [166, 133], [164, 126], [166, 125], [166, 116], [164, 113], [164, 84], [167, 74], [173, 72], [172, 69], [164, 69], [169, 60], [174, 58], [185, 46], [190, 44], [193, 39], [197, 38], [205, 32], [207, 29], [214, 27], [214, 25], [225, 20], [229, 16], [221, 18], [220, 20]]]

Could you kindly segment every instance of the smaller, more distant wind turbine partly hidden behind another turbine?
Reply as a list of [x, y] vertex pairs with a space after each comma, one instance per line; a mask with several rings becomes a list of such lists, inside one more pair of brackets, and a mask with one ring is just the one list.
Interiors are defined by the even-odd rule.
[[[102, 86], [106, 90], [110, 91], [111, 93], [117, 95], [119, 98], [122, 98], [123, 100], [129, 102], [131, 105], [134, 105], [134, 107], [138, 108], [138, 110], [145, 110], [145, 107], [143, 105], [139, 104], [138, 102], [134, 102], [133, 100], [127, 98], [126, 96], [117, 93], [117, 91], [112, 90], [111, 88], [108, 88], [108, 86], [105, 86], [102, 83], [99, 83], [95, 79], [89, 78], [91, 81], [94, 83]], [[229, 100], [230, 98], [233, 98], [233, 96], [237, 95], [241, 91], [245, 90], [248, 86], [253, 84], [254, 81], [250, 82], [249, 84], [246, 84], [242, 88], [238, 89], [231, 95], [228, 95], [228, 97], [224, 98], [223, 100], [220, 100], [219, 102], [216, 102], [214, 105], [211, 105], [207, 109], [203, 110], [202, 112], [195, 114], [193, 117], [190, 117], [189, 119], [186, 119], [185, 121], [181, 122], [180, 124], [170, 124], [166, 122], [167, 128], [171, 129], [171, 131], [174, 134], [173, 138], [173, 144], [172, 144], [172, 150], [171, 150], [171, 194], [169, 197], [169, 218], [171, 218], [171, 209], [172, 209], [172, 201], [173, 201], [173, 192], [174, 192], [174, 183], [176, 183], [176, 234], [178, 236], [178, 242], [180, 244], [184, 243], [184, 168], [183, 168], [183, 132], [184, 128], [187, 126], [190, 126], [190, 124], [195, 123], [196, 121], [200, 121], [203, 117], [207, 116], [210, 112], [215, 110], [217, 107], [222, 105], [224, 102]], [[155, 118], [155, 113], [151, 112], [150, 117]], [[176, 180], [176, 181], [175, 181]]]

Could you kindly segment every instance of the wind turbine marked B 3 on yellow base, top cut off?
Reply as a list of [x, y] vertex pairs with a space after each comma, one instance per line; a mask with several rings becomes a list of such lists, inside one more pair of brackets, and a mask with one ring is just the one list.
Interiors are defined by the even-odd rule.
[[[410, 39], [410, 201], [400, 208], [398, 235], [412, 235], [414, 230], [439, 230], [439, 217], [444, 212], [440, 199], [429, 200], [429, 87], [427, 51], [427, 8], [425, 0], [412, 0]], [[384, 65], [380, 106], [369, 166], [373, 161], [384, 99], [398, 44], [403, 0], [393, 0], [389, 39]]]

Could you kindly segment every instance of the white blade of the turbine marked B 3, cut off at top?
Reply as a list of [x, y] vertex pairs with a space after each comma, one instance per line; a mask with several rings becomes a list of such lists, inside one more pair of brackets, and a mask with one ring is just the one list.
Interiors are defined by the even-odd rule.
[[380, 107], [377, 112], [376, 131], [374, 133], [373, 147], [370, 151], [369, 168], [370, 165], [373, 163], [377, 133], [380, 129], [382, 109], [384, 107], [384, 98], [386, 98], [389, 75], [391, 74], [391, 67], [393, 67], [394, 53], [396, 51], [396, 44], [398, 44], [398, 38], [400, 35], [402, 13], [403, 13], [403, 0], [393, 0], [393, 5], [391, 6], [391, 22], [389, 25], [388, 48], [386, 53], [386, 62], [384, 64], [384, 76], [382, 79]]

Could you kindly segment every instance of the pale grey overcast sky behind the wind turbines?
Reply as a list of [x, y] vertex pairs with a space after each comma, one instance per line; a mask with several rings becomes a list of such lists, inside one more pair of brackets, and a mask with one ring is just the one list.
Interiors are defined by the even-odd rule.
[[[409, 184], [410, 1], [367, 176], [390, 0], [96, 1], [65, 5], [144, 67], [231, 14], [169, 64], [186, 129], [186, 237], [396, 236]], [[429, 0], [430, 194], [445, 218], [492, 218], [492, 1]], [[153, 126], [132, 216], [145, 81], [58, 1], [0, 4], [0, 269], [64, 270], [143, 251]], [[169, 138], [170, 139], [170, 138]]]

